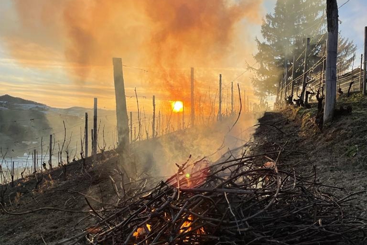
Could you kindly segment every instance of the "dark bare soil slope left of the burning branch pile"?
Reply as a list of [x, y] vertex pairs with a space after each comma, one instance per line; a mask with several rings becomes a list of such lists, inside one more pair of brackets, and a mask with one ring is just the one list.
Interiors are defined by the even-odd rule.
[[[78, 192], [105, 200], [114, 195], [108, 176], [116, 175], [113, 169], [116, 168], [117, 157], [111, 155], [112, 152], [106, 154], [106, 159], [94, 166], [88, 158], [87, 171], [82, 170], [81, 161], [69, 163], [66, 181], [63, 180], [61, 167], [46, 172], [37, 189], [34, 188], [37, 183], [34, 176], [15, 181], [15, 187], [8, 187], [6, 192], [4, 208], [8, 212], [17, 214], [39, 208], [58, 208], [75, 212], [51, 209], [9, 215], [3, 211], [0, 215], [0, 244], [50, 244], [80, 232], [84, 227], [78, 227], [76, 224], [88, 215], [82, 211], [90, 208], [84, 196]], [[95, 208], [101, 207], [101, 203], [87, 198]]]

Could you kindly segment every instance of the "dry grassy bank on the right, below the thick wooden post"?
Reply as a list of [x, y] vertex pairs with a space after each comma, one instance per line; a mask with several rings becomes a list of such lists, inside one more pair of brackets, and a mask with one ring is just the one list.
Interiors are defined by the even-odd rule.
[[[352, 106], [352, 114], [334, 119], [323, 132], [315, 124], [317, 105], [311, 109], [287, 107], [280, 112], [268, 112], [260, 122], [272, 123], [287, 133], [274, 130], [267, 137], [305, 152], [290, 157], [295, 162], [304, 161], [299, 166], [306, 172], [315, 165], [321, 183], [343, 187], [346, 194], [366, 191], [367, 97], [355, 93], [349, 98], [339, 98], [337, 107], [341, 105]], [[260, 127], [257, 132], [260, 135], [264, 130]], [[360, 207], [356, 215], [367, 218], [367, 194], [361, 194], [353, 202]]]

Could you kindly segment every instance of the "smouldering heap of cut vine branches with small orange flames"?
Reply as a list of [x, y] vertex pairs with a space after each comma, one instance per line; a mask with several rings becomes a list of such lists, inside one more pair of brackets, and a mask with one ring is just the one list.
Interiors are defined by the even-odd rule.
[[[288, 152], [287, 152], [288, 153]], [[96, 212], [84, 232], [90, 244], [329, 244], [365, 238], [352, 217], [350, 194], [323, 192], [316, 176], [300, 176], [282, 152], [177, 165], [154, 188], [147, 180], [114, 188], [115, 206]], [[285, 154], [285, 153], [284, 153]], [[268, 156], [274, 157], [273, 160]], [[331, 188], [331, 187], [328, 187]], [[148, 190], [149, 189], [149, 190]]]

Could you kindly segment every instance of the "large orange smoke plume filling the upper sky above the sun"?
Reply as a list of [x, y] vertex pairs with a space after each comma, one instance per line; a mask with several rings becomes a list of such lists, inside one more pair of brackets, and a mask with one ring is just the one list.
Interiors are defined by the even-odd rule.
[[[164, 85], [170, 96], [185, 96], [191, 66], [236, 64], [233, 52], [247, 40], [241, 45], [234, 42], [246, 33], [243, 22], [261, 21], [262, 1], [16, 0], [12, 4], [18, 21], [3, 30], [2, 38], [23, 65], [47, 55], [52, 60], [55, 51], [73, 78], [83, 82], [88, 76], [106, 79], [112, 57], [122, 57], [123, 64], [149, 69], [146, 86]], [[37, 53], [19, 51], [29, 43]], [[104, 69], [103, 76], [98, 69]]]

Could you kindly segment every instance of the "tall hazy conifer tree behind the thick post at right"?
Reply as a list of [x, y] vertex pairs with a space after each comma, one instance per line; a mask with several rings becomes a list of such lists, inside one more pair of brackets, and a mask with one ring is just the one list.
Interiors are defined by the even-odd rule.
[[[325, 9], [326, 4], [323, 0], [277, 0], [274, 12], [266, 15], [261, 26], [262, 39], [255, 39], [258, 53], [254, 55], [254, 58], [259, 68], [253, 68], [255, 73], [252, 83], [258, 96], [276, 94], [277, 84], [284, 72], [284, 60], [286, 59], [288, 68], [290, 68], [293, 55], [297, 60], [294, 66], [295, 78], [302, 75], [307, 37], [310, 38], [309, 68], [326, 54]], [[341, 64], [341, 71], [345, 71], [351, 65], [350, 61], [353, 59], [356, 46], [343, 37], [340, 37], [338, 43], [340, 44], [338, 62]], [[321, 65], [317, 65], [310, 76], [319, 72], [321, 68]], [[290, 80], [292, 73], [288, 72], [287, 75]], [[301, 82], [301, 79], [297, 80], [295, 86]]]

